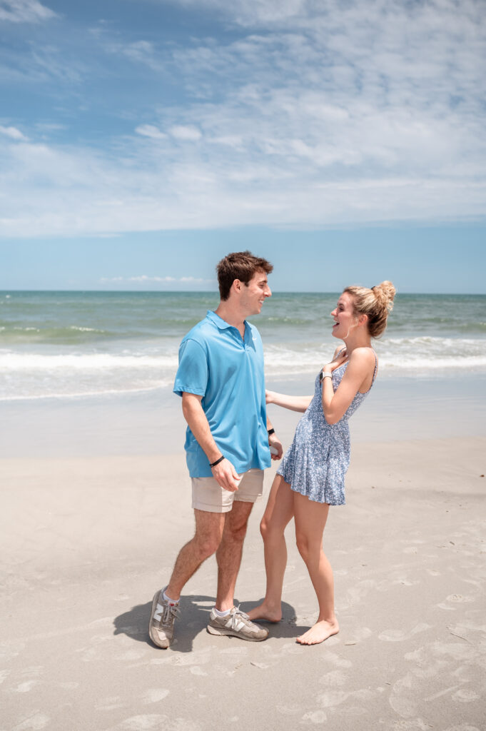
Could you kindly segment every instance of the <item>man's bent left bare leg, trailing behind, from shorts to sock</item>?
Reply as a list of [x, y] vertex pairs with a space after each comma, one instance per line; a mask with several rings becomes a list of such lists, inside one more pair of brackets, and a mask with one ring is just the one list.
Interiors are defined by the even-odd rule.
[[183, 586], [199, 569], [202, 562], [218, 550], [221, 537], [224, 534], [224, 518], [226, 515], [231, 515], [231, 513], [194, 510], [194, 517], [196, 518], [194, 538], [179, 551], [170, 582], [165, 590], [165, 593], [171, 599], [178, 601]]

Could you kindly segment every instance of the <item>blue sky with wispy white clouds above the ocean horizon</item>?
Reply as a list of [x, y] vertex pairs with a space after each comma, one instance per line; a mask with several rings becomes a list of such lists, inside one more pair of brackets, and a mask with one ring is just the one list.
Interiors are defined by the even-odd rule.
[[0, 287], [486, 292], [484, 8], [0, 0]]

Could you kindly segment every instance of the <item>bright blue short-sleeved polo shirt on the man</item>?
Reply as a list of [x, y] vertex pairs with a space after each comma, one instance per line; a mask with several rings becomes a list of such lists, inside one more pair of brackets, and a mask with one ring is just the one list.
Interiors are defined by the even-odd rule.
[[[245, 321], [245, 337], [208, 311], [183, 338], [174, 393], [202, 396], [214, 441], [238, 474], [270, 467], [265, 405], [262, 338]], [[186, 461], [191, 477], [212, 477], [208, 458], [194, 434], [186, 431]]]

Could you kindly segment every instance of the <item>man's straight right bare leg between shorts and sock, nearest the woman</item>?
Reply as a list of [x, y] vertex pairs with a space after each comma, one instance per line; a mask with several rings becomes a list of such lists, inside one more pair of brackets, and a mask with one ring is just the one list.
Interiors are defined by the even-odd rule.
[[233, 606], [236, 579], [243, 555], [243, 541], [253, 505], [252, 502], [235, 500], [232, 510], [226, 513], [223, 537], [216, 551], [218, 563], [216, 609], [220, 612], [232, 609]]

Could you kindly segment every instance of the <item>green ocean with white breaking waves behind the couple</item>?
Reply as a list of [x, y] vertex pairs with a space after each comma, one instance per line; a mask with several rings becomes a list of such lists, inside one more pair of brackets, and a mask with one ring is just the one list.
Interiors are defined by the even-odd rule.
[[[313, 374], [338, 293], [281, 293], [251, 318], [267, 382]], [[0, 401], [170, 391], [178, 345], [216, 292], [0, 292]], [[400, 293], [375, 342], [380, 376], [486, 374], [486, 295]]]

